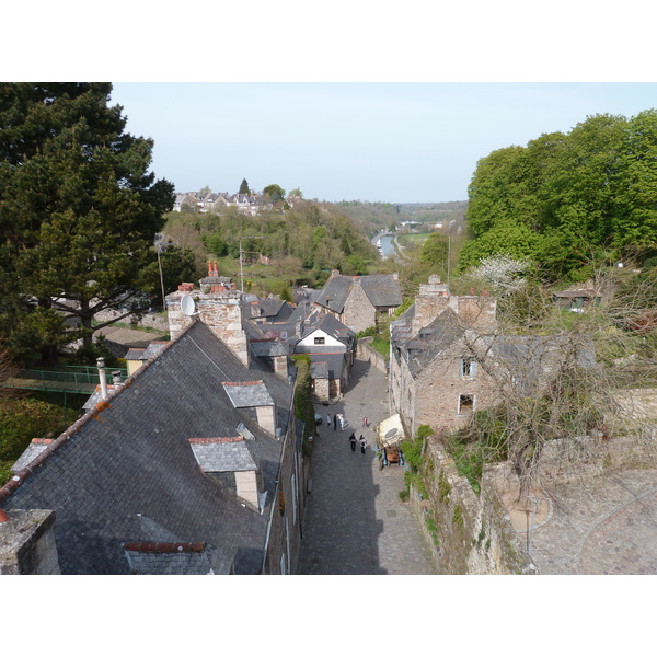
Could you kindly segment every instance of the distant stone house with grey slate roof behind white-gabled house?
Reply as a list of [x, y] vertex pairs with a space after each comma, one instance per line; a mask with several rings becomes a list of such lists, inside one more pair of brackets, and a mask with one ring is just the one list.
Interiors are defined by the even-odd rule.
[[315, 308], [359, 333], [388, 318], [402, 304], [397, 274], [343, 276], [333, 270], [315, 299]]

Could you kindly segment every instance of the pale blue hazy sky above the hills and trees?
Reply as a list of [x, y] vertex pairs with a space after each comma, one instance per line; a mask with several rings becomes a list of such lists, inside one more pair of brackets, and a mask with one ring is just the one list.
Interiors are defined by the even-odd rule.
[[468, 198], [480, 158], [592, 114], [657, 107], [656, 83], [114, 83], [176, 192], [278, 184], [320, 200]]

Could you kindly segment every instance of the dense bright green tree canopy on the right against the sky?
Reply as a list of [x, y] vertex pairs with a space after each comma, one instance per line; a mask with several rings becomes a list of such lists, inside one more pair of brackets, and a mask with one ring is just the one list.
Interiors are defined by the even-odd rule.
[[657, 247], [656, 161], [656, 110], [590, 116], [567, 135], [492, 152], [469, 187], [461, 267], [508, 255], [556, 279], [600, 257], [646, 257]]

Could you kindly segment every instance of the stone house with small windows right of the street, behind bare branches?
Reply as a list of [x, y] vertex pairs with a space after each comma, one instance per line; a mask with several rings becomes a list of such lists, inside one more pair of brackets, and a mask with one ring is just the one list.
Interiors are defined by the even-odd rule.
[[463, 427], [476, 411], [508, 394], [540, 393], [574, 358], [593, 367], [590, 339], [511, 336], [497, 331], [496, 299], [452, 296], [438, 277], [420, 286], [415, 304], [391, 324], [390, 407], [410, 435]]

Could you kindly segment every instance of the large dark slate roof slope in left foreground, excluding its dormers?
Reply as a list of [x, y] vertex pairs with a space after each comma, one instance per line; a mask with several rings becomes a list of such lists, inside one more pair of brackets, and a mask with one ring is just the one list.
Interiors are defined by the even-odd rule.
[[[0, 504], [7, 511], [55, 510], [64, 574], [129, 573], [123, 544], [152, 540], [153, 527], [178, 542], [234, 550], [235, 572], [257, 573], [268, 511], [242, 506], [205, 475], [188, 442], [234, 436], [243, 423], [255, 437], [245, 445], [273, 500], [283, 443], [234, 408], [221, 385], [254, 378], [196, 321], [1, 487]], [[277, 425], [286, 431], [293, 422], [291, 387], [266, 368], [257, 379], [277, 402]]]

